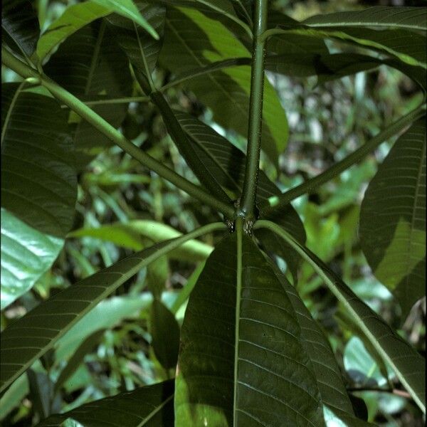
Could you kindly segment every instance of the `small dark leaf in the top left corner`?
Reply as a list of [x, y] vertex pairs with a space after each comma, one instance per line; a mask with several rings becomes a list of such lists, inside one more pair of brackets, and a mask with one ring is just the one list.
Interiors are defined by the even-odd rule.
[[28, 0], [4, 0], [1, 4], [1, 33], [14, 51], [30, 57], [36, 50], [40, 28], [33, 4]]

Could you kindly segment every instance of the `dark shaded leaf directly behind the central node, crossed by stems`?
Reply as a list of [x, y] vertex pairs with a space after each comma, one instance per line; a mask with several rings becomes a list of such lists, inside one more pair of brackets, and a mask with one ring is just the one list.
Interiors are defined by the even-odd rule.
[[[194, 144], [194, 149], [201, 162], [204, 162], [206, 168], [214, 174], [219, 184], [228, 189], [231, 197], [237, 199], [241, 194], [245, 176], [245, 154], [227, 139], [218, 135], [211, 127], [191, 117], [191, 115], [176, 112], [176, 118], [189, 135], [190, 142]], [[278, 187], [268, 179], [263, 171], [260, 171], [257, 192], [257, 203], [260, 210], [264, 206], [268, 206], [270, 196], [279, 194]], [[280, 214], [275, 215], [274, 220], [300, 242], [305, 242], [304, 226], [302, 226], [300, 217], [292, 205], [289, 204], [285, 209], [282, 209]], [[276, 253], [285, 259], [294, 275], [296, 274], [299, 259], [292, 255], [289, 246], [283, 243], [282, 239], [268, 230], [258, 230], [256, 236], [260, 238], [266, 251]]]

